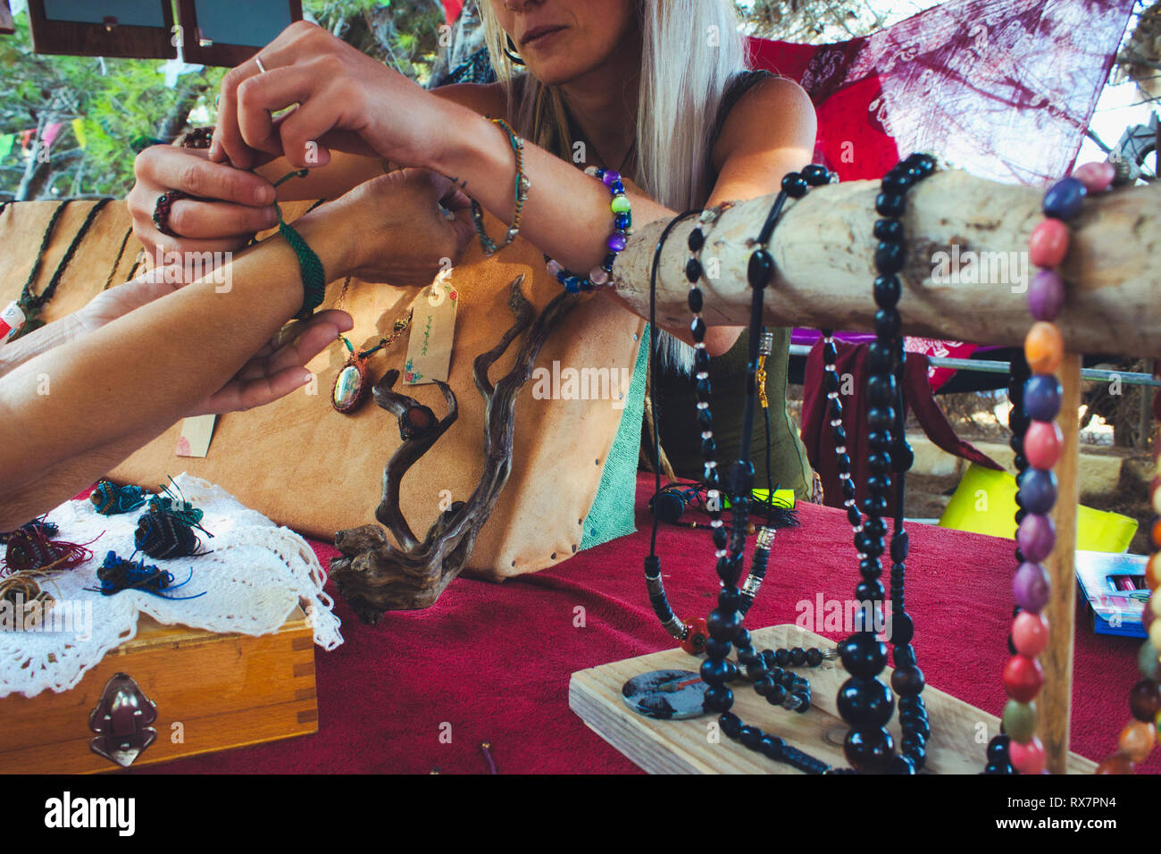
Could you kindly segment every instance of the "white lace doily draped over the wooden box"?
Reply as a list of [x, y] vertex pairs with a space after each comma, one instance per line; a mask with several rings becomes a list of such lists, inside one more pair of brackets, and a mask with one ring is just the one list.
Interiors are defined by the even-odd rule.
[[[316, 644], [333, 650], [342, 643], [339, 618], [331, 610], [334, 603], [323, 593], [326, 573], [307, 540], [208, 481], [182, 474], [175, 482], [186, 501], [204, 514], [202, 525], [214, 537], [197, 534], [210, 554], [173, 560], [146, 557], [145, 562], [173, 573], [174, 584], [189, 577], [170, 595], [194, 596], [203, 590], [205, 595], [166, 600], [140, 590], [113, 596], [86, 590], [100, 587], [96, 568], [109, 551], [125, 559], [132, 554], [142, 510], [101, 516], [88, 501], [65, 502], [48, 515], [60, 529], [57, 538], [88, 543], [93, 559], [41, 586], [58, 601], [56, 608], [63, 607], [60, 615], [73, 620], [44, 626], [65, 625], [65, 631], [13, 631], [10, 620], [0, 626], [0, 697], [15, 692], [31, 697], [49, 688], [75, 687], [107, 652], [136, 636], [139, 613], [167, 625], [259, 636], [276, 632], [301, 605]], [[86, 613], [92, 618], [86, 620]]]

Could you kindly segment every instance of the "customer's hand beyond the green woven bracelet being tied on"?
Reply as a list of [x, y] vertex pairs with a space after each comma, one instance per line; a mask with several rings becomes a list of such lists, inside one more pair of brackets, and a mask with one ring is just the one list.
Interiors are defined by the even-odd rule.
[[470, 206], [444, 175], [403, 168], [365, 181], [307, 216], [347, 231], [351, 258], [345, 273], [426, 287], [459, 263], [475, 236]]

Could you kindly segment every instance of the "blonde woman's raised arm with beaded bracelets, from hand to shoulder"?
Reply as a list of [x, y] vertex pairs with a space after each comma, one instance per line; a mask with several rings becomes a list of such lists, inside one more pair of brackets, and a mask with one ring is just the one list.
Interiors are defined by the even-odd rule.
[[[387, 157], [448, 175], [503, 222], [512, 221], [512, 150], [478, 112], [427, 92], [313, 24], [291, 24], [261, 57], [265, 71], [250, 59], [223, 79], [210, 159], [246, 168], [264, 153], [297, 167], [326, 164], [332, 150]], [[721, 193], [774, 192], [785, 172], [809, 162], [814, 112], [805, 99], [785, 81], [742, 99], [749, 109], [742, 119], [731, 115], [733, 128], [722, 135], [733, 138], [721, 141]], [[293, 103], [293, 113], [272, 120]], [[740, 109], [741, 102], [734, 113]], [[611, 230], [607, 189], [531, 143], [525, 173], [525, 238], [569, 270], [597, 266]], [[636, 225], [676, 214], [641, 193], [628, 195]], [[672, 331], [688, 340], [684, 329]]]

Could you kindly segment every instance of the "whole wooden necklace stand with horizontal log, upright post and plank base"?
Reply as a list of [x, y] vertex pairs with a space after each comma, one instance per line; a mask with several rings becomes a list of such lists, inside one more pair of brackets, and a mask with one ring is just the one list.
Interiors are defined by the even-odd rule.
[[[767, 324], [874, 331], [875, 303], [870, 287], [875, 275], [874, 243], [870, 235], [878, 187], [877, 181], [849, 181], [821, 187], [787, 204], [770, 243], [774, 280], [765, 293]], [[910, 249], [899, 273], [903, 333], [993, 345], [1023, 343], [1031, 324], [1027, 282], [1018, 286], [1011, 278], [1015, 268], [1005, 267], [1009, 272], [998, 278], [980, 277], [978, 281], [950, 285], [935, 279], [933, 259], [969, 251], [981, 258], [1008, 258], [1014, 264], [1024, 257], [1026, 263], [1029, 235], [1043, 218], [1041, 193], [958, 171], [937, 173], [910, 192], [903, 217]], [[706, 323], [749, 322], [751, 296], [745, 271], [753, 251], [755, 223], [763, 222], [771, 201], [772, 196], [766, 196], [735, 204], [714, 225], [701, 251], [720, 263], [720, 274], [702, 282]], [[1161, 229], [1155, 227], [1159, 218], [1161, 184], [1089, 199], [1070, 223], [1068, 256], [1059, 268], [1068, 282], [1068, 299], [1058, 320], [1068, 352], [1057, 372], [1062, 389], [1057, 423], [1063, 443], [1055, 469], [1055, 548], [1044, 561], [1052, 582], [1045, 609], [1052, 632], [1040, 655], [1044, 689], [1037, 730], [1047, 770], [1053, 774], [1095, 769], [1095, 763], [1068, 752], [1080, 353], [1161, 356], [1161, 300], [1155, 287], [1155, 271], [1161, 263]], [[692, 220], [677, 224], [661, 252], [656, 281], [658, 323], [682, 325], [688, 320], [688, 284], [683, 267], [686, 239], [695, 225]], [[649, 311], [649, 272], [664, 227], [665, 221], [657, 221], [637, 229], [618, 261], [618, 295], [642, 316]], [[867, 239], [857, 239], [856, 235], [866, 235]], [[755, 644], [771, 647], [832, 646], [796, 626], [774, 626], [753, 636]], [[997, 638], [997, 643], [1003, 639]], [[680, 650], [671, 650], [583, 670], [572, 675], [569, 702], [601, 738], [648, 772], [792, 772], [724, 735], [719, 744], [709, 744], [709, 716], [652, 720], [637, 716], [621, 699], [621, 686], [633, 676], [657, 669], [697, 670], [697, 665]], [[845, 724], [835, 708], [844, 679], [845, 672], [835, 662], [812, 670], [814, 708], [805, 716], [774, 710], [771, 717], [765, 702], [749, 690], [735, 692], [735, 711], [743, 720], [769, 727], [807, 753], [845, 767]], [[996, 689], [1001, 689], [1000, 674]], [[923, 697], [931, 722], [926, 769], [979, 772], [983, 745], [976, 744], [976, 730], [986, 723], [988, 735], [994, 735], [1000, 731], [998, 719], [930, 687]], [[892, 726], [896, 727], [897, 739], [897, 722]]]

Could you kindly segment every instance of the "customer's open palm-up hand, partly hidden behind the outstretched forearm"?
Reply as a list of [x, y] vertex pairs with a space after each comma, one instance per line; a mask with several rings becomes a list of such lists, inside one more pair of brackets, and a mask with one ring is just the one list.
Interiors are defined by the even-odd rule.
[[[132, 281], [102, 290], [77, 313], [80, 329], [92, 332], [181, 288], [180, 284], [166, 282], [166, 272], [165, 267], [154, 267]], [[311, 373], [305, 364], [353, 325], [346, 311], [319, 311], [296, 328], [293, 340], [286, 344], [277, 339], [267, 342], [230, 381], [192, 407], [187, 415], [254, 409], [290, 394], [310, 381]]]

